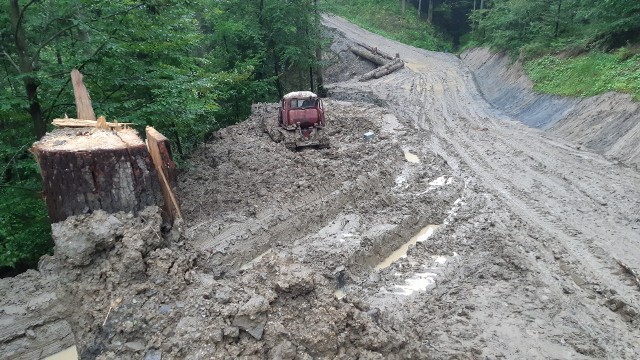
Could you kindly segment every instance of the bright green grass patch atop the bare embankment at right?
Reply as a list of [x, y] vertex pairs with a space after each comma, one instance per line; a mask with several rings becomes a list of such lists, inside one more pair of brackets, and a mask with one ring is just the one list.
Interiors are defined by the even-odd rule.
[[592, 52], [575, 58], [547, 55], [525, 63], [539, 92], [564, 96], [593, 96], [607, 91], [631, 94], [640, 100], [640, 55], [624, 49], [615, 54]]

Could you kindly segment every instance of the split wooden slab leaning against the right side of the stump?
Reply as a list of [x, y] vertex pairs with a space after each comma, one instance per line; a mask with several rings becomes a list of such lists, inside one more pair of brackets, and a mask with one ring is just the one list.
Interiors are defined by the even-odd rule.
[[182, 212], [172, 187], [172, 183], [175, 185], [175, 163], [171, 157], [169, 139], [151, 126], [147, 126], [146, 133], [147, 148], [160, 177], [165, 203], [164, 211], [169, 217], [170, 223], [173, 224], [176, 218], [182, 219]]

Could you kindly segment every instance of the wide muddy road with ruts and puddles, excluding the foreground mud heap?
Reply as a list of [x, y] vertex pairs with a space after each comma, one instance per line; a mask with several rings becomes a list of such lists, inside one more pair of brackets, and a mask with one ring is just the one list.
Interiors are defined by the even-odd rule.
[[330, 150], [282, 152], [255, 137], [258, 115], [196, 156], [187, 235], [212, 264], [294, 256], [338, 297], [401, 319], [429, 357], [638, 358], [640, 288], [618, 263], [640, 266], [638, 172], [509, 118], [454, 55], [324, 23], [349, 74], [350, 41], [406, 68], [328, 86]]

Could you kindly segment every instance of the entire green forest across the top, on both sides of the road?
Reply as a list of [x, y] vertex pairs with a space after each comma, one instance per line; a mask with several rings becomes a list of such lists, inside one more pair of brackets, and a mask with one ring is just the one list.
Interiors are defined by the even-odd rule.
[[542, 84], [566, 86], [559, 71], [593, 78], [596, 68], [606, 79], [568, 95], [640, 94], [638, 0], [2, 0], [2, 273], [51, 250], [28, 149], [51, 119], [75, 116], [71, 69], [85, 75], [97, 115], [155, 126], [182, 161], [252, 102], [322, 87], [321, 11], [426, 49], [508, 51], [531, 59]]

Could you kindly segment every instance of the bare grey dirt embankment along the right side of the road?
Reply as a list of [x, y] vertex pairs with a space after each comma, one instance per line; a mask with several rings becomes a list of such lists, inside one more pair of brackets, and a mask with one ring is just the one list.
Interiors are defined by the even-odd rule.
[[640, 103], [630, 95], [589, 98], [538, 94], [520, 62], [476, 48], [461, 59], [473, 71], [484, 97], [496, 108], [553, 136], [625, 164], [640, 166]]

